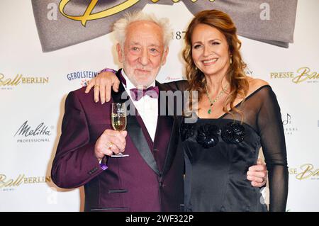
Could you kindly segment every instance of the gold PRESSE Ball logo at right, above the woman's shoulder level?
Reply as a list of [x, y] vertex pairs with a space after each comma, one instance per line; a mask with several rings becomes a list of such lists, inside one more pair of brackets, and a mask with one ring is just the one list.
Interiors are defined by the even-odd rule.
[[295, 84], [319, 83], [319, 74], [309, 67], [301, 67], [296, 72], [271, 72], [271, 79], [289, 79]]

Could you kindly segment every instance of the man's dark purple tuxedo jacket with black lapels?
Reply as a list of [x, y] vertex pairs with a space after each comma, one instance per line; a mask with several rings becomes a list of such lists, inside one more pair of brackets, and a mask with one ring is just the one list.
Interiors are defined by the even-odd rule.
[[[157, 85], [160, 91], [172, 89]], [[108, 157], [105, 171], [99, 166], [94, 145], [104, 130], [111, 129], [111, 103], [130, 101], [121, 100], [123, 92], [121, 84], [103, 105], [94, 103], [93, 91], [85, 94], [82, 88], [69, 93], [52, 180], [61, 188], [84, 185], [84, 211], [181, 211], [184, 155], [176, 117], [159, 115], [153, 143], [142, 118], [128, 115], [125, 153], [130, 156]]]

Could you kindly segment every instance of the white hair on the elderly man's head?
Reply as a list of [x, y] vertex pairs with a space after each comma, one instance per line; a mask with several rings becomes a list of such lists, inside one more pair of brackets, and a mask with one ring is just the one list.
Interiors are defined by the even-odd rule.
[[113, 32], [116, 40], [123, 47], [126, 38], [126, 29], [128, 26], [136, 21], [150, 21], [156, 23], [163, 31], [164, 47], [168, 47], [170, 40], [172, 40], [172, 28], [169, 24], [168, 18], [157, 18], [153, 13], [143, 13], [142, 11], [135, 11], [133, 13], [127, 12], [123, 18], [119, 19], [113, 25]]

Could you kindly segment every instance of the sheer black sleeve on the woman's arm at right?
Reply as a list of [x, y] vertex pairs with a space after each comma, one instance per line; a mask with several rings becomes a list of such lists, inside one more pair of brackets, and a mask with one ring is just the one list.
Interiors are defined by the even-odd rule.
[[280, 108], [270, 86], [262, 89], [259, 95], [262, 103], [257, 114], [257, 127], [269, 171], [269, 211], [286, 211], [288, 167]]

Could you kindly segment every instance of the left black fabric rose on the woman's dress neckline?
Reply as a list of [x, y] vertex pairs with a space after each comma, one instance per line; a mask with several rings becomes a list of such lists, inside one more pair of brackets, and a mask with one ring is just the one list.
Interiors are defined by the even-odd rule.
[[220, 128], [217, 125], [201, 125], [197, 130], [196, 141], [204, 148], [213, 147], [218, 143]]

